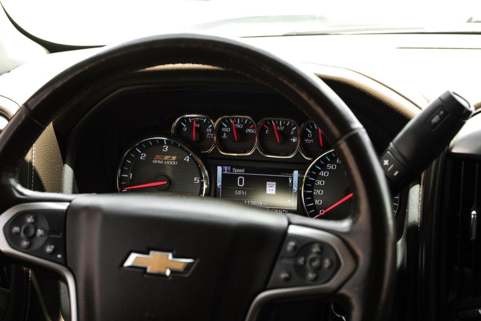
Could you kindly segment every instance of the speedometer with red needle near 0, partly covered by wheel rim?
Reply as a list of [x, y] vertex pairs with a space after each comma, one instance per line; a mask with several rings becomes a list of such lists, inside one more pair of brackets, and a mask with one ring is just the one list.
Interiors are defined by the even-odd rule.
[[[307, 168], [301, 195], [304, 210], [311, 218], [343, 219], [351, 215], [355, 195], [341, 159], [333, 150], [317, 157]], [[398, 205], [399, 194], [392, 199], [394, 215]]]

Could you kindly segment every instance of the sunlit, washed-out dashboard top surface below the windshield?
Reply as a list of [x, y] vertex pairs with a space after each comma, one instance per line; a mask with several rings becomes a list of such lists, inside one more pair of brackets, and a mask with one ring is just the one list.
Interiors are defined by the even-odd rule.
[[[446, 89], [460, 92], [473, 104], [481, 103], [476, 81], [472, 78], [481, 72], [477, 64], [481, 50], [479, 37], [458, 34], [312, 35], [244, 38], [243, 41], [293, 62], [301, 62], [312, 72], [323, 65], [354, 70], [385, 84], [422, 108], [427, 100]], [[39, 53], [35, 59], [1, 75], [0, 94], [22, 104], [51, 77], [101, 50]], [[19, 83], [22, 86], [18, 86]]]

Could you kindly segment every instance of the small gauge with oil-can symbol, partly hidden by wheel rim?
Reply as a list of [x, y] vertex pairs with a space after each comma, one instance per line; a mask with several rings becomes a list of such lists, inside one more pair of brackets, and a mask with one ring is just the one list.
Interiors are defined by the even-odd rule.
[[330, 150], [324, 132], [313, 121], [304, 123], [301, 129], [301, 151], [306, 158], [314, 158]]

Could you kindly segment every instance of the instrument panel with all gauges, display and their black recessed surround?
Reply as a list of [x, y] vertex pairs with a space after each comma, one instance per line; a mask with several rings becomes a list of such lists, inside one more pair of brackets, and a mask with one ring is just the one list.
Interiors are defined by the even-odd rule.
[[[352, 213], [355, 195], [322, 128], [265, 89], [126, 89], [77, 130], [79, 193], [200, 195], [323, 219]], [[400, 204], [395, 195], [394, 215]]]

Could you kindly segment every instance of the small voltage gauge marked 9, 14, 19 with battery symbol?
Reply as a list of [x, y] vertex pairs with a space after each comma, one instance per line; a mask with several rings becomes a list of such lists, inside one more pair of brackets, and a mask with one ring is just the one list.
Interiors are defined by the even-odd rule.
[[177, 118], [172, 133], [184, 138], [201, 152], [210, 152], [214, 146], [214, 123], [203, 115], [185, 115]]

